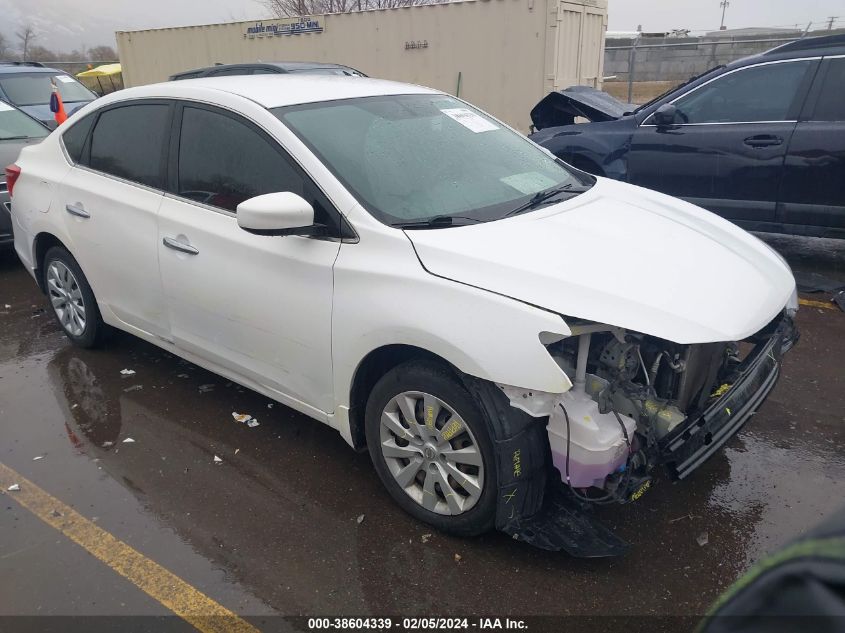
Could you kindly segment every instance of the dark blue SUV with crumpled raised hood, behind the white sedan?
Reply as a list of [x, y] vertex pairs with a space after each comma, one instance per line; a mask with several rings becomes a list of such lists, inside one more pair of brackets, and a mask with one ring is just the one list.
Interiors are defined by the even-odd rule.
[[[845, 238], [845, 35], [714, 68], [635, 109], [593, 93], [544, 98], [532, 140], [749, 230]], [[595, 122], [561, 125], [573, 115]]]

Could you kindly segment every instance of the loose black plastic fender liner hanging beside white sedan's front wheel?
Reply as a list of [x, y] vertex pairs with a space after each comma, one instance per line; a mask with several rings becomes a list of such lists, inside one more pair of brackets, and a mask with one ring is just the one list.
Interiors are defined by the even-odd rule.
[[580, 558], [620, 556], [628, 544], [592, 516], [560, 481], [552, 481], [544, 419], [511, 406], [493, 383], [463, 376], [490, 424], [499, 490], [496, 529], [548, 551]]

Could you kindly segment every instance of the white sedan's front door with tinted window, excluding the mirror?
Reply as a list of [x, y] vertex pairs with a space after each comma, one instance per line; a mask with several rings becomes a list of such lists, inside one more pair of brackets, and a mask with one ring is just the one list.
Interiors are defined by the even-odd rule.
[[331, 412], [331, 311], [339, 240], [238, 227], [236, 207], [277, 191], [333, 212], [273, 139], [217, 108], [185, 105], [173, 193], [159, 214], [161, 281], [177, 346], [288, 399]]

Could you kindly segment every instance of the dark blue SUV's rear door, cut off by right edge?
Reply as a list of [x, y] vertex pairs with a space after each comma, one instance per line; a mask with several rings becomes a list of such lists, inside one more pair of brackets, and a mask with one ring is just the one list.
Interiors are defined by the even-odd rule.
[[777, 216], [787, 231], [845, 237], [845, 56], [819, 68], [789, 144]]

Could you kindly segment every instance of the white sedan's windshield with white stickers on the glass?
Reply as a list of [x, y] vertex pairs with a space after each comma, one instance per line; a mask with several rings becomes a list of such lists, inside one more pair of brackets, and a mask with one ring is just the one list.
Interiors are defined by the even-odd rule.
[[344, 99], [273, 113], [386, 224], [496, 220], [541, 191], [586, 184], [524, 136], [448, 95]]

